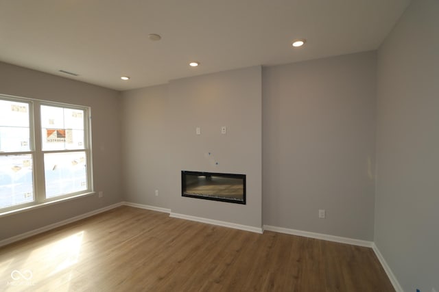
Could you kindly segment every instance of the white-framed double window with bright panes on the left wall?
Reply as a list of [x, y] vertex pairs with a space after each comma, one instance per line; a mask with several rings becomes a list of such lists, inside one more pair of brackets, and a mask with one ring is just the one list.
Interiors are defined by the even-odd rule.
[[92, 191], [89, 116], [0, 95], [0, 213]]

